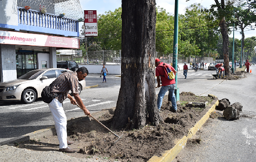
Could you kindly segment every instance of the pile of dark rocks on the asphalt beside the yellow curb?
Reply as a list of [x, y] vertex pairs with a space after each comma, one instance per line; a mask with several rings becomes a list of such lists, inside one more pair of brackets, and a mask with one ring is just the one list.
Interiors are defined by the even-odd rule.
[[227, 119], [239, 119], [240, 112], [242, 112], [243, 106], [239, 102], [235, 102], [230, 105], [229, 99], [219, 100], [219, 105], [216, 107], [217, 110], [224, 110], [223, 116]]

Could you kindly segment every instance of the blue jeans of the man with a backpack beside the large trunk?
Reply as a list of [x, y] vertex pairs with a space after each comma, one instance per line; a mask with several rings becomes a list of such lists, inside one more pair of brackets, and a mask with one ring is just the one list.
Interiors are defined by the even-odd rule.
[[176, 105], [176, 97], [175, 97], [175, 84], [171, 84], [171, 85], [168, 85], [168, 86], [162, 86], [159, 93], [158, 93], [158, 97], [157, 97], [157, 108], [158, 110], [161, 109], [161, 106], [162, 106], [162, 98], [163, 96], [165, 95], [165, 93], [169, 91], [169, 97], [171, 99], [171, 102], [172, 102], [172, 108], [174, 110], [177, 110], [177, 105]]

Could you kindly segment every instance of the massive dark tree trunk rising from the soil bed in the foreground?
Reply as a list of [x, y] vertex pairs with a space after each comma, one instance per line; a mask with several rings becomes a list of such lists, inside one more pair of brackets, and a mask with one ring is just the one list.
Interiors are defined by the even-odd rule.
[[158, 125], [155, 98], [155, 0], [122, 0], [121, 88], [113, 127]]

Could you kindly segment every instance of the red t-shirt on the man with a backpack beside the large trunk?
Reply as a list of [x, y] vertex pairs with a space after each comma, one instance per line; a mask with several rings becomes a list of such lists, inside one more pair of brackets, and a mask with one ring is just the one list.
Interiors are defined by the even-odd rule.
[[[162, 65], [162, 64], [163, 64], [163, 62], [160, 63], [160, 65]], [[171, 65], [169, 65], [169, 64], [167, 64], [167, 63], [165, 63], [165, 64], [166, 64], [172, 71], [175, 70]], [[168, 85], [170, 85], [170, 84], [175, 84], [175, 79], [169, 80], [169, 79], [165, 78], [165, 77], [164, 77], [164, 73], [165, 73], [165, 71], [164, 71], [164, 69], [163, 69], [162, 66], [159, 66], [159, 65], [158, 65], [158, 66], [155, 68], [155, 76], [160, 76], [161, 81], [162, 81], [162, 86], [168, 86]]]

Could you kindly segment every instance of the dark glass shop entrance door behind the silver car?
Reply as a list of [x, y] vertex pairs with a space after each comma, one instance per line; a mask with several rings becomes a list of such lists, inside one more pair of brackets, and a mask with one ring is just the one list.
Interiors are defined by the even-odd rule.
[[37, 69], [37, 55], [34, 51], [16, 52], [17, 78], [35, 69]]

